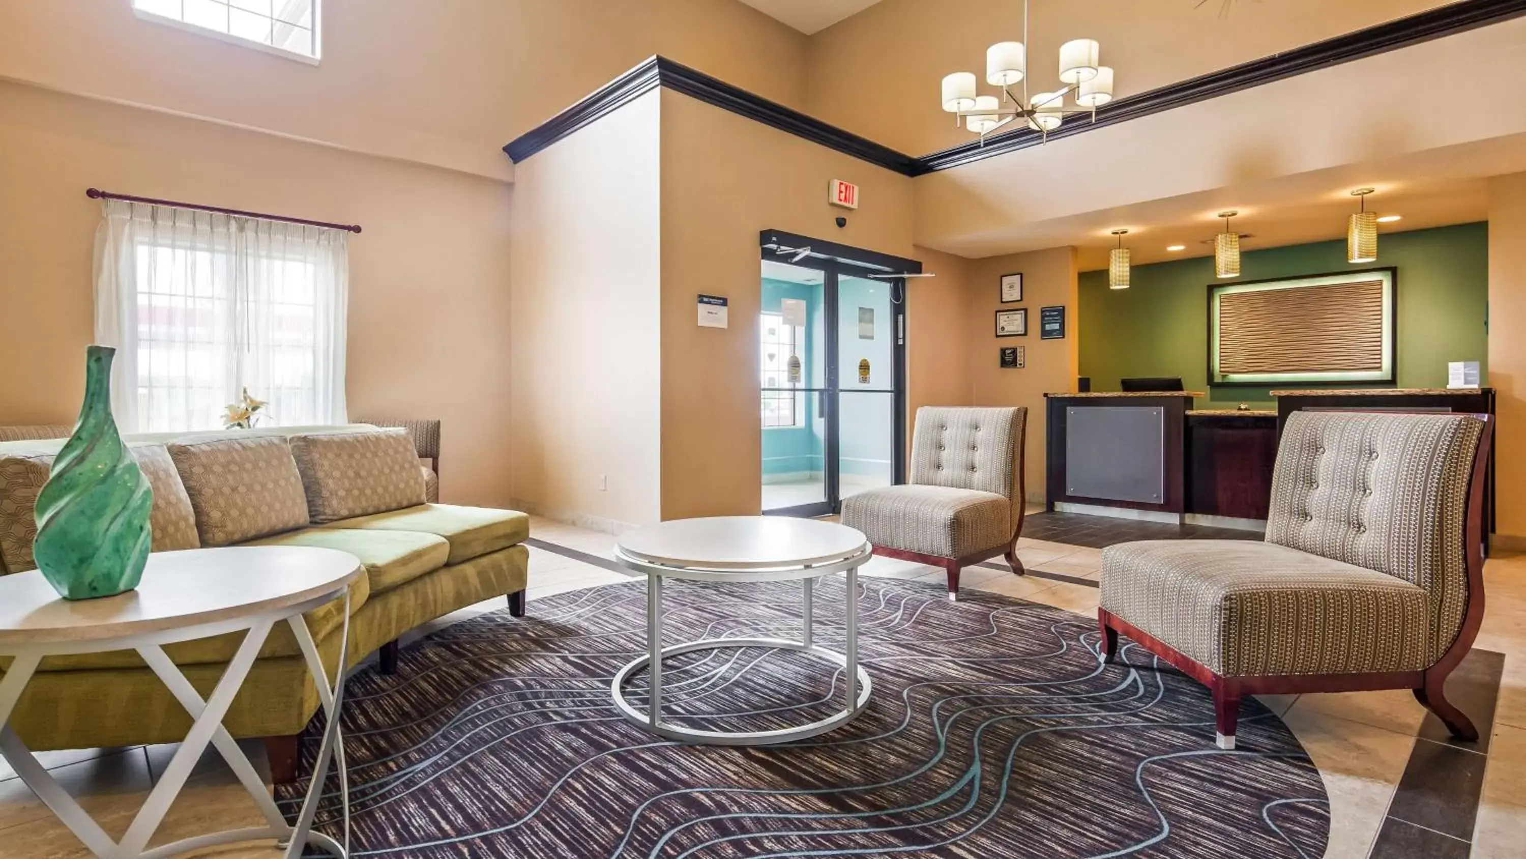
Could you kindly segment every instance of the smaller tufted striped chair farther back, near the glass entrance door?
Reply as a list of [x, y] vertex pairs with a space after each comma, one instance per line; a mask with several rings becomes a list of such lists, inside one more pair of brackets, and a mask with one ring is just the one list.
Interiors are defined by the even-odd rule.
[[842, 502], [842, 523], [858, 528], [876, 555], [942, 566], [949, 600], [958, 574], [1006, 555], [1022, 575], [1022, 442], [1027, 409], [923, 406], [911, 436], [911, 482]]

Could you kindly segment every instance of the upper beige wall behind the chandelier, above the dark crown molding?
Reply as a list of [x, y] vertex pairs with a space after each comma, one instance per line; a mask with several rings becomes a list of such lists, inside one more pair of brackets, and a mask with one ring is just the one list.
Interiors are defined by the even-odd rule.
[[[1033, 0], [1030, 92], [1061, 87], [1059, 46], [1073, 38], [1102, 43], [1102, 63], [1117, 69], [1125, 96], [1441, 5], [1242, 2], [1221, 15], [1218, 0]], [[882, 0], [810, 38], [807, 110], [913, 156], [963, 143], [972, 137], [942, 111], [938, 81], [974, 72], [981, 92], [995, 93], [984, 84], [986, 47], [1004, 40], [1022, 41], [1021, 3]]]

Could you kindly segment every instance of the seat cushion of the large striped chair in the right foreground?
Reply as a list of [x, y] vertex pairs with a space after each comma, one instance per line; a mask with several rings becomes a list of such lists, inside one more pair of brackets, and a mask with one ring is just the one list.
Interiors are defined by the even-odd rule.
[[1100, 606], [1216, 674], [1430, 667], [1430, 601], [1392, 575], [1251, 540], [1102, 551]]

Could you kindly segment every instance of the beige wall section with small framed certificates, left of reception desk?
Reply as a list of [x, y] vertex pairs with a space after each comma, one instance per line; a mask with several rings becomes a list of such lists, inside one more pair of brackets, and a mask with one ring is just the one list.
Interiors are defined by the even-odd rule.
[[[1022, 304], [1001, 304], [1001, 276], [1022, 272]], [[1082, 320], [1077, 317], [1076, 249], [1054, 247], [1032, 253], [974, 259], [966, 288], [969, 313], [969, 366], [974, 406], [1027, 406], [1027, 494], [1044, 500], [1044, 394], [1076, 389], [1080, 369], [1077, 349]], [[1065, 339], [1039, 339], [1039, 308], [1065, 307]], [[1029, 308], [1027, 337], [996, 337], [996, 310]], [[1022, 346], [1022, 369], [1001, 369], [998, 349]]]

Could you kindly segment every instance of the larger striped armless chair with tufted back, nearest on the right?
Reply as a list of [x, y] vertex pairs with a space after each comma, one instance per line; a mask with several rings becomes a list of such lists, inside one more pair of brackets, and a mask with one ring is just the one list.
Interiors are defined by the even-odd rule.
[[1122, 632], [1206, 684], [1225, 749], [1242, 694], [1384, 688], [1477, 740], [1442, 685], [1483, 621], [1491, 433], [1477, 415], [1293, 413], [1265, 542], [1103, 549], [1106, 659]]

